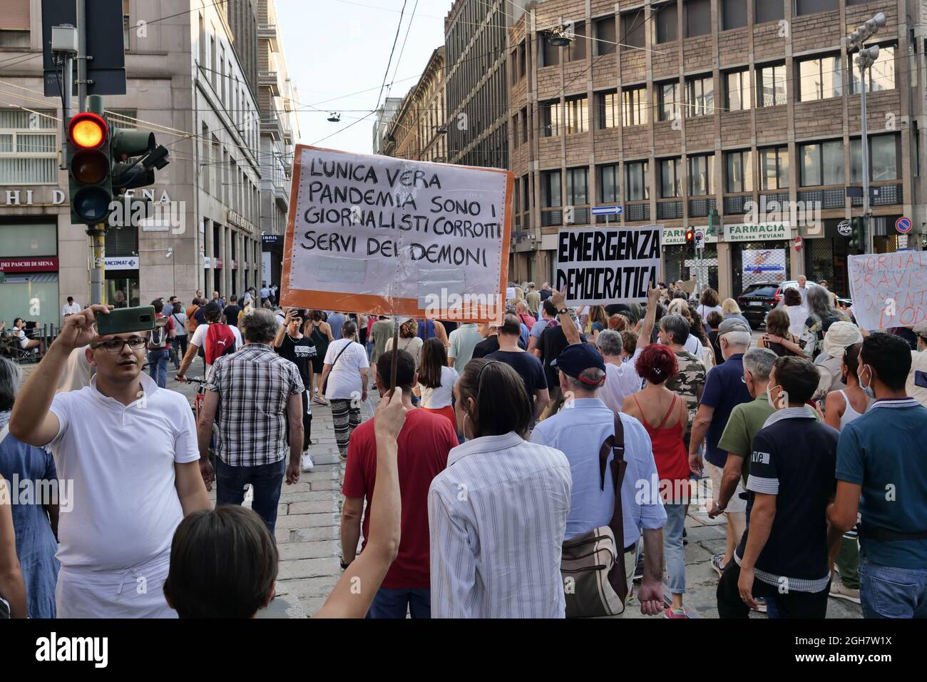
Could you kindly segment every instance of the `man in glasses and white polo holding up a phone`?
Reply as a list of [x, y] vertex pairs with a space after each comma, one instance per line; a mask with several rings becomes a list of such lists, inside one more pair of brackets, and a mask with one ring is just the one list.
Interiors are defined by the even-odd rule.
[[[50, 445], [70, 499], [59, 500], [59, 618], [175, 618], [162, 592], [184, 515], [210, 508], [183, 395], [142, 372], [147, 331], [98, 336], [93, 305], [69, 315], [19, 392], [10, 433]], [[55, 393], [81, 346], [96, 374]], [[68, 510], [70, 509], [70, 510]]]

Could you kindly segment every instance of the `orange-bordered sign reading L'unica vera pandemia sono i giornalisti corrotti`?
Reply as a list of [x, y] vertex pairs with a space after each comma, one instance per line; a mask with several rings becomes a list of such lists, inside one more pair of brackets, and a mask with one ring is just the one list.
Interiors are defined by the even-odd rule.
[[281, 302], [501, 318], [513, 175], [298, 145]]

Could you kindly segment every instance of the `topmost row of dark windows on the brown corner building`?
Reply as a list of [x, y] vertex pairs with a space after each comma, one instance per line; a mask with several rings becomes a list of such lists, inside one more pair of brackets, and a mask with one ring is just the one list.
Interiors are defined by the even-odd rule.
[[[862, 5], [871, 0], [845, 0], [847, 6]], [[711, 33], [711, 0], [681, 0], [683, 12], [682, 28], [686, 38]], [[471, 3], [472, 5], [472, 3]], [[785, 19], [781, 0], [753, 0], [754, 23], [766, 23]], [[839, 9], [838, 0], [794, 0], [794, 16], [800, 17], [813, 12]], [[679, 6], [676, 2], [651, 6], [650, 20], [643, 7], [622, 12], [616, 22], [614, 15], [593, 19], [590, 25], [584, 21], [567, 21], [566, 28], [573, 36], [572, 42], [561, 48], [551, 45], [545, 32], [540, 32], [538, 59], [540, 66], [554, 66], [561, 61], [577, 61], [586, 58], [587, 43], [592, 57], [615, 52], [617, 44], [626, 48], [644, 47], [646, 32], [651, 31], [651, 42], [671, 43], [679, 40]], [[648, 26], [649, 25], [649, 26]], [[747, 25], [747, 0], [720, 0], [718, 29], [728, 31]], [[617, 29], [617, 30], [616, 30]], [[563, 52], [561, 52], [563, 50]], [[512, 53], [517, 66], [513, 71], [515, 81], [525, 76], [525, 48], [519, 45]]]

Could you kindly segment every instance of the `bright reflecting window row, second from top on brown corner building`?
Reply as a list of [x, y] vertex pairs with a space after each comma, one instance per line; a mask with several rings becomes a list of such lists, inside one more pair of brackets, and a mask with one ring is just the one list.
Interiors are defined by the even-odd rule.
[[[869, 70], [866, 79], [867, 92], [895, 88], [895, 49], [886, 46]], [[796, 62], [799, 84], [796, 87], [798, 101], [806, 102], [829, 97], [842, 97], [844, 92], [839, 57], [816, 57]], [[857, 71], [850, 70], [848, 94], [860, 90]], [[750, 84], [750, 71], [739, 69], [721, 74], [724, 85], [722, 110], [739, 111], [751, 107], [774, 107], [786, 103], [785, 65], [765, 64], [756, 67], [756, 97]], [[687, 118], [715, 113], [715, 82], [711, 75], [687, 78], [684, 84], [685, 97], [680, 97], [679, 81], [664, 81], [654, 84], [654, 99], [657, 121], [671, 121], [681, 118], [685, 111]], [[646, 85], [633, 85], [621, 89], [620, 99], [616, 90], [595, 94], [595, 127], [614, 128], [643, 125], [648, 122]], [[527, 141], [527, 109], [522, 109], [522, 141]], [[540, 104], [542, 137], [572, 135], [589, 130], [588, 97], [566, 97], [563, 105], [559, 101]], [[517, 141], [516, 141], [517, 142]], [[517, 144], [516, 144], [517, 146]]]

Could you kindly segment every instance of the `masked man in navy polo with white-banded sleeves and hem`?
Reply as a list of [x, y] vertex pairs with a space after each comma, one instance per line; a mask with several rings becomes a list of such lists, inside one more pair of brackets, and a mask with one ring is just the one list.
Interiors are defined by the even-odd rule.
[[756, 433], [747, 478], [747, 530], [717, 585], [721, 618], [747, 618], [756, 597], [770, 618], [824, 618], [831, 571], [828, 528], [839, 432], [806, 409], [819, 373], [805, 358], [780, 357], [769, 373], [776, 408]]

